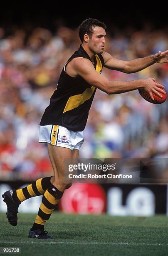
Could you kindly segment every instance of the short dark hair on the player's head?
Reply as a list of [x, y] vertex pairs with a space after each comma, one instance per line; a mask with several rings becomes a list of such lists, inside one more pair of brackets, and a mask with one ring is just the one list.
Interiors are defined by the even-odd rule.
[[79, 26], [79, 37], [82, 43], [84, 41], [85, 34], [87, 34], [91, 38], [95, 26], [106, 29], [106, 24], [96, 19], [89, 18], [81, 23], [81, 25]]

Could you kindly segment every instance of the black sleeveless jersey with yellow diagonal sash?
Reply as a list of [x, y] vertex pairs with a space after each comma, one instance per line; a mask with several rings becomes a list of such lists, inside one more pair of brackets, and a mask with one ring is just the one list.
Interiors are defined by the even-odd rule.
[[[49, 106], [44, 111], [40, 125], [61, 125], [71, 131], [83, 131], [93, 101], [96, 87], [88, 84], [82, 77], [71, 77], [66, 73], [66, 65], [77, 57], [90, 59], [82, 45], [72, 54], [64, 65], [57, 89]], [[94, 56], [94, 68], [101, 74], [104, 59], [101, 54]]]

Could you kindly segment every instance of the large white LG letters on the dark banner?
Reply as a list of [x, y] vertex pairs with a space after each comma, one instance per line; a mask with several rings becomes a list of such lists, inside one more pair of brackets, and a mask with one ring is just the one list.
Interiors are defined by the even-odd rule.
[[151, 216], [155, 214], [155, 195], [147, 187], [136, 187], [126, 197], [126, 205], [122, 203], [123, 191], [113, 187], [107, 193], [107, 212], [110, 215]]

